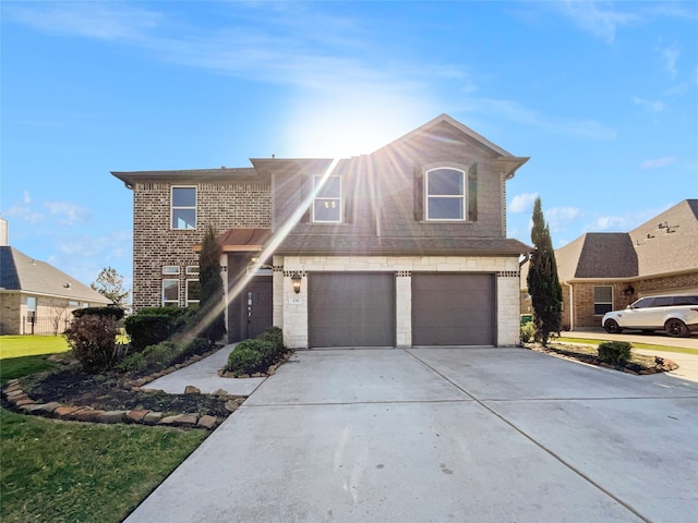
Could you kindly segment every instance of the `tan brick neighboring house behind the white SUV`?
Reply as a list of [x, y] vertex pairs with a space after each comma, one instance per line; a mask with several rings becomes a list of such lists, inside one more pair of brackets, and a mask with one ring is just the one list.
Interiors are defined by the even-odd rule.
[[[601, 327], [638, 297], [698, 292], [698, 199], [685, 199], [630, 232], [593, 232], [555, 251], [563, 328]], [[521, 277], [526, 285], [526, 275]], [[528, 304], [522, 312], [530, 308]]]

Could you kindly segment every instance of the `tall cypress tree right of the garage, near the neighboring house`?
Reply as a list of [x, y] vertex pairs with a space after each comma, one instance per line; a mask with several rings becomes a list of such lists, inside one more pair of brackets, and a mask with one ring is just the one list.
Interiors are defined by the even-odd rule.
[[559, 332], [563, 316], [563, 289], [557, 278], [555, 251], [550, 238], [550, 229], [543, 218], [540, 197], [535, 198], [533, 206], [531, 241], [534, 250], [529, 258], [526, 281], [533, 305], [535, 341], [545, 346], [551, 333]]

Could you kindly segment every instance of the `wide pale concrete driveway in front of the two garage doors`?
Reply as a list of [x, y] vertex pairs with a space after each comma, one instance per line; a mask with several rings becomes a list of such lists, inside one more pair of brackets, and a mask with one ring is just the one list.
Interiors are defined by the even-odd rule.
[[297, 352], [127, 521], [696, 521], [697, 435], [698, 384], [669, 376], [514, 348]]

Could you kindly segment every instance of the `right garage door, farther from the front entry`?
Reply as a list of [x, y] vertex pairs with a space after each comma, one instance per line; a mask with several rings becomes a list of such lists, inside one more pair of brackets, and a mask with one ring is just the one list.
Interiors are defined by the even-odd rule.
[[412, 273], [412, 344], [495, 344], [494, 296], [494, 275]]

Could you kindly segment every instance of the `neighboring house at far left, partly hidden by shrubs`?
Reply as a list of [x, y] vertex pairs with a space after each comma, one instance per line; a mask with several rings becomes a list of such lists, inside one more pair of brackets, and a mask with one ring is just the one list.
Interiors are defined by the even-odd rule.
[[0, 335], [62, 333], [71, 311], [109, 303], [56, 267], [0, 246]]

